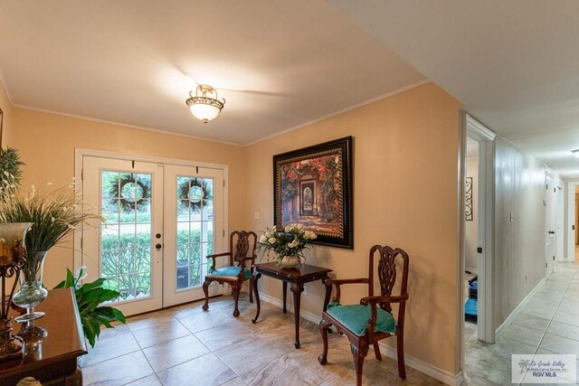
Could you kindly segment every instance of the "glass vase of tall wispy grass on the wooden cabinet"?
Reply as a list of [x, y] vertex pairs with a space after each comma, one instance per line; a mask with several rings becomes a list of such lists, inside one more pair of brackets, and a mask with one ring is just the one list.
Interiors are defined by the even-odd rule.
[[34, 186], [24, 191], [16, 184], [7, 185], [0, 200], [0, 222], [32, 222], [26, 234], [25, 247], [28, 262], [19, 280], [20, 290], [14, 294], [14, 304], [27, 309], [16, 321], [25, 322], [42, 316], [35, 313], [37, 306], [47, 296], [43, 287], [43, 264], [46, 253], [74, 231], [81, 223], [101, 221], [91, 208], [73, 191], [73, 184], [50, 191], [48, 185]]

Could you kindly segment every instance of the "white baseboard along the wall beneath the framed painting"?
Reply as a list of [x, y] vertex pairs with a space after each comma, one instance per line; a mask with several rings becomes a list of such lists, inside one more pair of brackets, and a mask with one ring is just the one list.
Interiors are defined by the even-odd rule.
[[[274, 306], [278, 306], [283, 308], [283, 302], [280, 299], [275, 297], [270, 297], [265, 294], [260, 294], [260, 299], [268, 302]], [[293, 305], [287, 304], [286, 307], [288, 311], [293, 314]], [[299, 310], [299, 316], [303, 317], [304, 319], [318, 325], [319, 321], [321, 320], [321, 314], [317, 315], [308, 311]], [[385, 353], [388, 357], [393, 358], [396, 360], [396, 350], [392, 347], [388, 347], [382, 342], [380, 346], [384, 349], [382, 352]], [[458, 374], [453, 375], [451, 372], [446, 372], [445, 370], [441, 370], [438, 367], [434, 367], [431, 364], [426, 362], [422, 362], [413, 356], [408, 354], [404, 354], [404, 362], [408, 367], [412, 367], [414, 370], [418, 370], [419, 372], [423, 372], [424, 374], [434, 378], [435, 380], [444, 382], [451, 386], [459, 386], [460, 383], [463, 381], [462, 372], [460, 371]]]

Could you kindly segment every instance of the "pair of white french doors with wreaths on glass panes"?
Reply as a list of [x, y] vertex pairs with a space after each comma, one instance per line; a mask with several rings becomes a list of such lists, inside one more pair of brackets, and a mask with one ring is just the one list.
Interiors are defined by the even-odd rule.
[[105, 219], [82, 234], [87, 279], [107, 278], [126, 315], [204, 297], [205, 257], [223, 250], [223, 170], [88, 155], [82, 169], [83, 198]]

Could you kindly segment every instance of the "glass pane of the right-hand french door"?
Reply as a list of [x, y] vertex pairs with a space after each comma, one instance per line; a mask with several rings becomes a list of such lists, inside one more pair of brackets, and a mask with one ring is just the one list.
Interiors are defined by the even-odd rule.
[[214, 249], [214, 181], [178, 175], [176, 183], [176, 289], [199, 287], [207, 273], [205, 258]]

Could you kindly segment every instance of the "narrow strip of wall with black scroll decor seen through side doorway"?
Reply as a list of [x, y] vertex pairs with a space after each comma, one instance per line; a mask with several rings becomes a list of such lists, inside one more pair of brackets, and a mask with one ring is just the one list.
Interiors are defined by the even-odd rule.
[[479, 254], [479, 157], [467, 158], [466, 176], [472, 177], [472, 221], [465, 221], [464, 268], [478, 269]]

